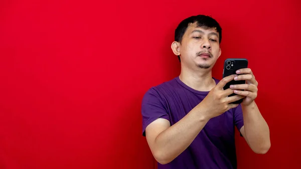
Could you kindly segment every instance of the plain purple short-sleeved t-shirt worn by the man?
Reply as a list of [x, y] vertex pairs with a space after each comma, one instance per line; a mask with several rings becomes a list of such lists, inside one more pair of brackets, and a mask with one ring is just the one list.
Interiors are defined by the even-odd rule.
[[[169, 120], [171, 125], [177, 123], [208, 93], [192, 89], [179, 77], [150, 88], [142, 99], [143, 136], [146, 126], [158, 118]], [[243, 126], [241, 105], [210, 119], [185, 151], [168, 164], [158, 163], [158, 169], [235, 169], [235, 126], [238, 130]]]

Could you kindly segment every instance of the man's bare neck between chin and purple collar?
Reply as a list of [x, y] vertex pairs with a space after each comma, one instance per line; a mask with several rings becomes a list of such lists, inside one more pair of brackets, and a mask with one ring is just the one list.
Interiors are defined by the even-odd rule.
[[179, 78], [187, 86], [198, 91], [210, 91], [216, 85], [210, 68], [190, 70], [182, 67]]

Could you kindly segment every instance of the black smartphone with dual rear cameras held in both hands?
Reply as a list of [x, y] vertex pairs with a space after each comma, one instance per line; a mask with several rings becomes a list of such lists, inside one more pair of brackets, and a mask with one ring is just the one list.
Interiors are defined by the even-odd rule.
[[[247, 68], [248, 67], [248, 60], [247, 59], [240, 59], [240, 58], [233, 58], [233, 59], [226, 59], [225, 63], [224, 63], [224, 71], [223, 71], [223, 78], [236, 74], [236, 71], [238, 69], [243, 69], [243, 68]], [[245, 80], [232, 80], [230, 82], [228, 82], [225, 86], [224, 86], [224, 90], [230, 88], [230, 85], [233, 84], [245, 84], [246, 81]], [[232, 93], [230, 96], [234, 96], [236, 95], [235, 93]], [[235, 102], [232, 102], [234, 104], [240, 104], [242, 102], [243, 99], [237, 100]]]

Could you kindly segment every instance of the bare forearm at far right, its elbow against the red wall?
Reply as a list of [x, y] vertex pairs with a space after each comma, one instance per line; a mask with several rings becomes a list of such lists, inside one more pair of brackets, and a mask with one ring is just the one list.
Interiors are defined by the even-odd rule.
[[244, 132], [251, 149], [256, 153], [265, 153], [270, 147], [269, 127], [262, 117], [256, 103], [242, 105]]

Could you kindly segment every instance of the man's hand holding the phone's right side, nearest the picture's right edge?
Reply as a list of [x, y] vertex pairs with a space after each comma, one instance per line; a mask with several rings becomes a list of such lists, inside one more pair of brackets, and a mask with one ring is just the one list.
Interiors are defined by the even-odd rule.
[[250, 105], [257, 97], [258, 82], [255, 80], [255, 76], [250, 68], [239, 69], [236, 71], [234, 80], [246, 80], [246, 84], [231, 85], [230, 88], [234, 89], [234, 93], [246, 96], [242, 103], [243, 105]]

